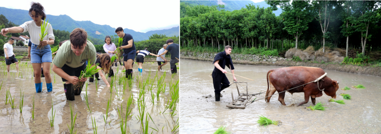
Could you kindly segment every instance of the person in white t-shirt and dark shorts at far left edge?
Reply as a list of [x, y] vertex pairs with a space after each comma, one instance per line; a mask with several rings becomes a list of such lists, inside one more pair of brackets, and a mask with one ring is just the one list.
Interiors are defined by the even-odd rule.
[[12, 63], [16, 64], [16, 70], [18, 72], [18, 61], [15, 58], [15, 54], [13, 53], [12, 44], [15, 42], [13, 38], [9, 38], [8, 42], [4, 44], [4, 55], [5, 55], [5, 63], [7, 64], [7, 71], [9, 72], [9, 66]]

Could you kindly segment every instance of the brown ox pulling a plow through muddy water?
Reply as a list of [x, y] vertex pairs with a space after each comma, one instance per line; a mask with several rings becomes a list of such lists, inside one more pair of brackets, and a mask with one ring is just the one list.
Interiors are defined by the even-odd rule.
[[[306, 84], [308, 82], [314, 81], [325, 74], [325, 71], [321, 68], [316, 67], [284, 67], [272, 69], [267, 72], [267, 92], [266, 92], [266, 102], [270, 102], [271, 95], [274, 95], [275, 91], [282, 92], [289, 90], [291, 88], [297, 87], [299, 85]], [[269, 86], [270, 84], [270, 86]], [[319, 80], [320, 90], [324, 89], [326, 95], [336, 98], [336, 91], [339, 88], [339, 82], [330, 79], [328, 76], [323, 77]], [[269, 91], [270, 87], [270, 91]], [[304, 86], [294, 88], [288, 91], [291, 93], [304, 92], [304, 102], [299, 103], [298, 106], [306, 104], [311, 97], [312, 104], [315, 105], [315, 98], [323, 96], [323, 92], [319, 90], [316, 82], [311, 82]], [[284, 103], [285, 92], [279, 94], [278, 101], [285, 105]]]

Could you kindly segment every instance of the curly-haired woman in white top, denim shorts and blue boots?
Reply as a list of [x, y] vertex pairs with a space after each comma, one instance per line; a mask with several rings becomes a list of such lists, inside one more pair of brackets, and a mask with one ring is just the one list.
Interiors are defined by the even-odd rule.
[[[52, 62], [52, 52], [50, 50], [50, 44], [54, 43], [54, 34], [53, 28], [48, 23], [47, 30], [48, 34], [40, 41], [41, 34], [41, 22], [44, 21], [46, 15], [44, 13], [44, 7], [40, 3], [31, 3], [31, 7], [29, 9], [29, 15], [33, 19], [31, 21], [27, 21], [24, 24], [1, 29], [1, 34], [6, 36], [7, 33], [22, 33], [28, 31], [30, 34], [30, 41], [32, 42], [31, 46], [31, 63], [33, 66], [33, 70], [35, 72], [35, 85], [36, 92], [40, 93], [42, 91], [42, 82], [41, 82], [41, 64], [44, 68], [44, 75], [46, 81], [46, 87], [48, 92], [51, 92], [52, 80], [50, 77], [50, 64]], [[39, 44], [43, 47], [38, 48]]]

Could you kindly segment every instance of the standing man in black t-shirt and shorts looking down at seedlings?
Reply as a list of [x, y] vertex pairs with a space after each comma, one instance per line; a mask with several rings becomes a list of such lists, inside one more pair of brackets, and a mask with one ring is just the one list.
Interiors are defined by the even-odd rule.
[[123, 38], [122, 46], [119, 47], [120, 50], [123, 50], [123, 62], [125, 71], [125, 77], [128, 79], [132, 78], [132, 65], [134, 63], [136, 48], [134, 43], [134, 38], [129, 33], [124, 33], [122, 27], [118, 27], [115, 30], [115, 33], [118, 34], [120, 38]]

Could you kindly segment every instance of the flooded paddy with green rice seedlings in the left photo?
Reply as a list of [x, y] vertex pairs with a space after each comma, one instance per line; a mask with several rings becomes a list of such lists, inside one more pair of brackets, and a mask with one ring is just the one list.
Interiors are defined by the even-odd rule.
[[[179, 75], [171, 75], [169, 65], [162, 67], [164, 71], [156, 72], [157, 63], [146, 62], [143, 64], [143, 74], [139, 76], [135, 64], [134, 80], [130, 83], [123, 82], [125, 73], [122, 74], [121, 66], [113, 67], [116, 76], [112, 91], [101, 77], [98, 84], [87, 80], [89, 109], [85, 87], [81, 95], [75, 96], [75, 101], [67, 101], [61, 78], [51, 71], [53, 92], [47, 92], [45, 78], [42, 78], [42, 92], [36, 93], [30, 62], [22, 61], [19, 65], [20, 72], [16, 72], [15, 64], [11, 65], [10, 72], [6, 72], [5, 62], [0, 62], [0, 81], [3, 81], [0, 91], [0, 133], [69, 133], [68, 125], [72, 126], [71, 106], [73, 116], [76, 114], [73, 130], [76, 133], [94, 133], [93, 122], [98, 127], [98, 133], [122, 133], [121, 126], [126, 133], [178, 133], [179, 110], [176, 107]], [[110, 82], [112, 78], [107, 79]], [[9, 99], [5, 104], [6, 90], [14, 98], [15, 108], [11, 108]], [[19, 108], [20, 90], [24, 93], [22, 113]], [[130, 109], [127, 108], [129, 101]], [[52, 111], [55, 111], [53, 127], [50, 125]], [[126, 117], [127, 111], [131, 114]], [[106, 122], [104, 117], [107, 117]]]

